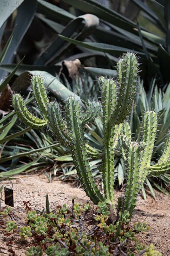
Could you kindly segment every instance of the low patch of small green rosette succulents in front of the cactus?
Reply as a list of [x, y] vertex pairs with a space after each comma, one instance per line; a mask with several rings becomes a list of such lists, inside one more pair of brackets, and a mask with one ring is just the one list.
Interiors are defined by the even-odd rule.
[[[85, 224], [87, 213], [90, 213], [89, 221], [93, 223], [90, 229]], [[29, 211], [26, 216], [29, 226], [27, 223], [27, 226], [19, 229], [15, 221], [7, 221], [6, 230], [11, 233], [13, 229], [15, 232], [20, 230], [22, 240], [34, 238], [31, 239], [34, 246], [26, 251], [27, 256], [42, 256], [44, 253], [50, 256], [110, 256], [113, 253], [136, 256], [136, 252], [140, 255], [145, 253], [146, 256], [161, 256], [153, 245], [145, 249], [137, 239], [137, 233], [144, 234], [149, 230], [145, 222], [134, 223], [131, 227], [130, 214], [126, 210], [123, 215], [119, 212], [121, 221], [110, 223], [109, 216], [105, 202], [91, 207], [89, 203], [82, 205], [72, 199], [71, 210], [64, 204], [49, 214], [46, 211], [40, 214]], [[38, 246], [35, 246], [36, 241]], [[129, 247], [130, 244], [133, 245]]]

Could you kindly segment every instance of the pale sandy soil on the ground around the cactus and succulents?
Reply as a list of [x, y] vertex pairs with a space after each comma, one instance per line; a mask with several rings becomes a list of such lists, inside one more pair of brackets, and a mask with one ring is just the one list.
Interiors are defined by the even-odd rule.
[[[42, 210], [45, 208], [46, 193], [49, 196], [51, 209], [55, 209], [58, 205], [63, 205], [64, 203], [71, 206], [74, 195], [77, 197], [76, 202], [82, 202], [84, 204], [89, 201], [89, 198], [82, 189], [76, 188], [67, 182], [53, 181], [52, 183], [48, 183], [44, 174], [19, 175], [16, 180], [13, 180], [13, 189], [13, 217], [21, 225], [24, 225], [26, 217], [23, 201], [30, 201], [32, 210]], [[153, 243], [156, 249], [162, 252], [163, 256], [169, 256], [170, 198], [157, 191], [155, 192], [156, 199], [147, 195], [146, 202], [142, 196], [138, 197], [132, 222], [145, 221], [150, 226], [150, 230], [146, 235], [139, 235], [139, 241], [146, 245]], [[2, 198], [4, 198], [4, 195]], [[5, 204], [2, 201], [2, 208], [4, 206]], [[7, 233], [5, 230], [5, 220], [0, 218], [0, 255], [24, 256], [25, 251], [30, 246], [33, 246], [33, 241], [31, 239], [21, 241], [17, 233]]]

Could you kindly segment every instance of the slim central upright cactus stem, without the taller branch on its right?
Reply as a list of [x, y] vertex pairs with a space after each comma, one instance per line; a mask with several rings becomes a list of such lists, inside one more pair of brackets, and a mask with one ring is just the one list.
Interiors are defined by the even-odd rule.
[[[114, 206], [114, 130], [111, 125], [111, 115], [116, 106], [116, 83], [111, 79], [100, 77], [102, 86], [102, 108], [103, 108], [103, 165], [102, 175], [105, 190], [105, 198], [113, 208]], [[118, 142], [118, 141], [117, 141]], [[117, 144], [116, 144], [117, 145]]]

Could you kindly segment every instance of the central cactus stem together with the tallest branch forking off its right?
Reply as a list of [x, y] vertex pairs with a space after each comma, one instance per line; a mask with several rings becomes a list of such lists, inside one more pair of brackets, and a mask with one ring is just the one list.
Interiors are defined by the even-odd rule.
[[[106, 202], [114, 206], [114, 151], [122, 123], [130, 113], [136, 92], [137, 60], [128, 53], [118, 61], [118, 80], [100, 77], [103, 108], [103, 184]], [[119, 125], [117, 130], [116, 125]]]

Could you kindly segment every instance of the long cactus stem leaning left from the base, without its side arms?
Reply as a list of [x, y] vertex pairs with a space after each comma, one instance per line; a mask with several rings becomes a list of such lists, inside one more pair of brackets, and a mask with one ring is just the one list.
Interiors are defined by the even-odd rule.
[[103, 196], [98, 190], [85, 148], [85, 137], [83, 130], [83, 122], [78, 101], [75, 97], [69, 97], [65, 102], [65, 114], [68, 129], [72, 133], [72, 141], [70, 147], [72, 149], [72, 158], [75, 164], [77, 174], [85, 189], [85, 192], [94, 203], [104, 201]]

